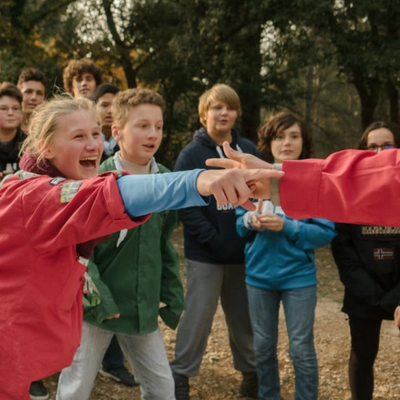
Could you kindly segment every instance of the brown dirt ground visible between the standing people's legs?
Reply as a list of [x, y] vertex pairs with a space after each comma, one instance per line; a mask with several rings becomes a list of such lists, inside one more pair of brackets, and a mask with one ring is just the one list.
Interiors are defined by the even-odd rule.
[[[349, 330], [346, 315], [340, 311], [342, 287], [328, 250], [317, 253], [319, 299], [316, 310], [315, 343], [320, 368], [320, 400], [349, 400], [347, 379]], [[175, 332], [162, 327], [170, 358], [173, 356]], [[384, 321], [381, 346], [375, 363], [374, 400], [400, 399], [400, 338], [392, 321]], [[294, 399], [293, 368], [288, 354], [284, 317], [281, 312], [278, 358], [285, 400]], [[193, 400], [239, 399], [241, 375], [233, 369], [224, 316], [219, 307], [204, 355], [200, 374], [191, 379]], [[46, 380], [55, 398], [57, 377]], [[138, 388], [126, 388], [98, 376], [90, 400], [139, 400]], [[243, 398], [242, 398], [243, 399]], [[76, 399], [80, 400], [80, 399]]]

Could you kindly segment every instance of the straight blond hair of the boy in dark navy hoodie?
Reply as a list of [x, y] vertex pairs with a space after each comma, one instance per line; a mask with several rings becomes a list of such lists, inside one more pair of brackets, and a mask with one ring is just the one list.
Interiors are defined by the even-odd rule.
[[199, 99], [199, 117], [204, 126], [207, 125], [207, 111], [215, 103], [227, 104], [237, 112], [238, 117], [242, 114], [238, 94], [228, 85], [217, 84], [204, 92]]

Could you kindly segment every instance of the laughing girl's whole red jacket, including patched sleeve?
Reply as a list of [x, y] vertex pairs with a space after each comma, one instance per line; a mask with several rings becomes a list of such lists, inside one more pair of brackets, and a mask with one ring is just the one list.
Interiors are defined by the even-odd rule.
[[0, 189], [0, 399], [70, 365], [86, 267], [76, 245], [130, 229], [117, 175], [83, 181], [13, 176]]

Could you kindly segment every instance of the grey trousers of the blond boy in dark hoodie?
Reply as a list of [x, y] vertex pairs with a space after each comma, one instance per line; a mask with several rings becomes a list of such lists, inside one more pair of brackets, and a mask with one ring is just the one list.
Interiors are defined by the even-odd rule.
[[187, 377], [198, 373], [220, 297], [234, 367], [255, 372], [245, 266], [186, 260], [186, 268], [185, 311], [178, 327], [172, 372]]

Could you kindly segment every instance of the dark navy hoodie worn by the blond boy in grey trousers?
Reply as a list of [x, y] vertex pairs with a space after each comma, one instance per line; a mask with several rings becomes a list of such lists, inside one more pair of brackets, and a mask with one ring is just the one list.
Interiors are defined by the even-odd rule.
[[[232, 130], [231, 147], [259, 155], [255, 144], [241, 138], [235, 130]], [[211, 169], [205, 161], [221, 156], [224, 156], [222, 147], [211, 139], [205, 128], [201, 128], [179, 154], [174, 171]], [[178, 214], [184, 227], [186, 258], [213, 264], [244, 263], [245, 240], [236, 233], [235, 209], [231, 204], [219, 206], [211, 196], [209, 206], [182, 209]]]

